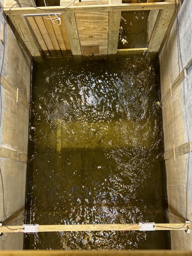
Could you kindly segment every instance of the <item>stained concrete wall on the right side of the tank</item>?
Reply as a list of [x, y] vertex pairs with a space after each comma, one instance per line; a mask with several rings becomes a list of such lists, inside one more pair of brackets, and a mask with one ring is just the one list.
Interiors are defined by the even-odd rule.
[[[192, 60], [192, 1], [184, 0], [179, 11], [180, 46], [183, 68], [188, 68]], [[178, 47], [176, 35], [176, 22], [174, 22], [170, 32], [159, 51], [161, 96], [166, 99], [162, 103], [164, 151], [175, 148], [192, 141], [192, 70], [187, 69], [187, 76], [184, 81], [174, 84], [179, 76]], [[180, 63], [180, 71], [181, 63]], [[170, 95], [170, 83], [172, 84], [172, 97]], [[177, 87], [178, 85], [178, 87]], [[186, 114], [188, 122], [188, 132], [186, 124], [184, 88], [186, 99]], [[189, 150], [190, 151], [190, 150]], [[180, 155], [165, 160], [167, 175], [167, 197], [168, 208], [183, 218], [186, 214], [186, 180], [188, 153], [180, 150]], [[185, 154], [186, 153], [186, 154]], [[192, 220], [192, 152], [189, 153], [189, 178], [188, 178], [188, 220]], [[182, 221], [177, 215], [172, 214], [170, 222]], [[184, 220], [184, 219], [183, 219]], [[192, 234], [184, 231], [171, 231], [172, 249], [192, 250]]]

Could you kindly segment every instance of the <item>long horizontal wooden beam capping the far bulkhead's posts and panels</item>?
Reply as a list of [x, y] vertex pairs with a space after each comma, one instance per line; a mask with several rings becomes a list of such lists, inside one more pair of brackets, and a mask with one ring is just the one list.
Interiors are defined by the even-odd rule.
[[[67, 7], [67, 6], [66, 6]], [[23, 14], [40, 14], [47, 12], [62, 12], [62, 13], [74, 13], [74, 12], [105, 12], [105, 11], [147, 11], [147, 10], [174, 10], [175, 4], [173, 2], [160, 2], [160, 3], [136, 3], [136, 4], [98, 4], [98, 5], [86, 5], [86, 6], [70, 6], [64, 9], [65, 6], [47, 6], [47, 7], [22, 7], [14, 8], [9, 12], [9, 16], [23, 15]], [[9, 11], [9, 8], [3, 9], [5, 13]]]

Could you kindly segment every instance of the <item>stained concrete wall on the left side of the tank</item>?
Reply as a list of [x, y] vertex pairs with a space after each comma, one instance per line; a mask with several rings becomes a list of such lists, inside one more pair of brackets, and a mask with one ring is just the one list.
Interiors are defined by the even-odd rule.
[[[3, 23], [4, 16], [1, 12], [0, 24]], [[5, 47], [1, 77], [0, 167], [4, 183], [6, 222], [9, 225], [22, 225], [25, 209], [31, 56], [9, 24], [5, 26], [4, 41], [4, 44], [0, 42], [0, 68]], [[3, 221], [0, 182], [0, 223]], [[6, 249], [23, 249], [23, 234], [6, 233], [0, 236], [0, 250]]]

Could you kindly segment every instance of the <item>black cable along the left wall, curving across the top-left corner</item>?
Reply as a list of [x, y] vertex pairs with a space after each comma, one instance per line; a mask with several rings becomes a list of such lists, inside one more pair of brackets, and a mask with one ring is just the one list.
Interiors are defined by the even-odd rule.
[[[76, 0], [73, 1], [73, 3], [75, 3]], [[69, 4], [67, 7], [65, 8], [62, 8], [62, 9], [59, 9], [59, 10], [53, 10], [53, 12], [57, 12], [57, 11], [62, 11], [62, 10], [65, 10], [67, 9], [68, 7], [70, 7], [73, 3]], [[19, 3], [19, 4], [23, 4], [23, 3]], [[17, 4], [13, 4], [10, 9], [8, 10], [8, 12], [6, 13], [5, 15], [5, 18], [4, 18], [4, 31], [3, 31], [3, 37], [4, 37], [4, 47], [3, 47], [3, 56], [2, 56], [2, 65], [1, 65], [1, 70], [0, 70], [0, 100], [1, 100], [1, 111], [0, 111], [0, 128], [1, 128], [1, 118], [2, 118], [2, 93], [1, 93], [1, 76], [2, 76], [2, 71], [3, 71], [3, 65], [4, 65], [4, 55], [5, 55], [5, 25], [6, 25], [6, 18], [9, 14], [9, 12], [11, 11], [11, 9]], [[30, 7], [35, 7], [35, 6], [32, 6], [32, 5], [29, 5], [29, 4], [25, 4], [27, 6], [30, 6]], [[35, 7], [36, 9], [39, 9], [39, 10], [42, 10], [41, 8], [38, 8], [38, 7]], [[52, 10], [44, 10], [46, 12], [50, 12]], [[4, 215], [4, 223], [5, 223], [5, 226], [6, 228], [10, 229], [10, 230], [18, 230], [18, 229], [23, 229], [23, 228], [9, 228], [6, 224], [6, 219], [5, 219], [5, 207], [4, 207], [4, 185], [3, 185], [3, 176], [2, 176], [2, 171], [1, 171], [1, 167], [0, 167], [0, 176], [1, 176], [1, 184], [2, 184], [2, 197], [3, 197], [3, 215]]]

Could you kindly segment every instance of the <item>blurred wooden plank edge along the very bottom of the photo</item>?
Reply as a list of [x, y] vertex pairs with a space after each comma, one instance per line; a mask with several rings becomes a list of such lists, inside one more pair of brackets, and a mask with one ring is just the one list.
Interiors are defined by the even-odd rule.
[[114, 251], [65, 251], [65, 250], [4, 250], [1, 256], [192, 256], [191, 251], [179, 250], [114, 250]]

